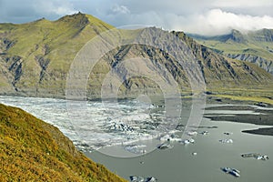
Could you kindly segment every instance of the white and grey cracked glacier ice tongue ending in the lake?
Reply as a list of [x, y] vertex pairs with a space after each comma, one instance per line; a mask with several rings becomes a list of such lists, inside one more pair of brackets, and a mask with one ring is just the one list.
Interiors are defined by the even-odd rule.
[[128, 144], [127, 150], [139, 153], [145, 149], [129, 144], [157, 138], [169, 130], [166, 127], [170, 121], [164, 119], [164, 108], [154, 112], [155, 106], [136, 100], [86, 102], [84, 106], [76, 103], [79, 106], [70, 107], [74, 110], [67, 110], [66, 100], [54, 98], [0, 96], [0, 103], [20, 107], [57, 126], [76, 147], [88, 151]]

